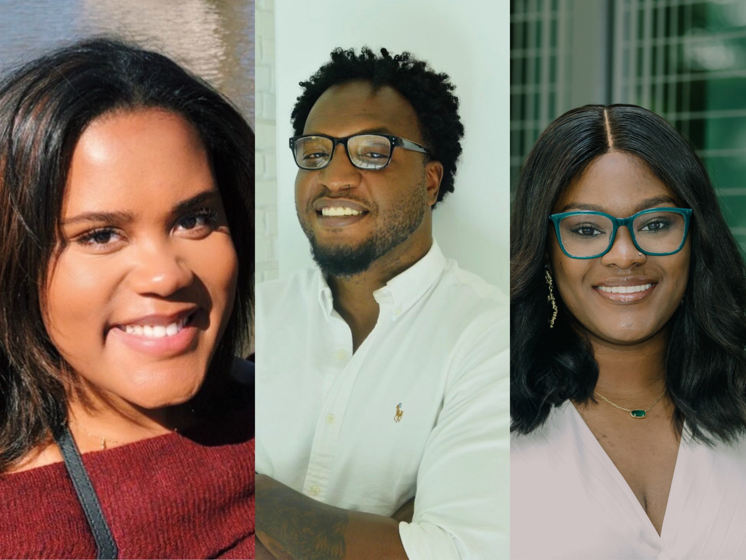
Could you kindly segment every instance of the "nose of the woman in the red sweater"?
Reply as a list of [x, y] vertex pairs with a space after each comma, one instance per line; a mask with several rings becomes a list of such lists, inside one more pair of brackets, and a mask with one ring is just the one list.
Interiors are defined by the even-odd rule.
[[143, 296], [169, 297], [194, 281], [194, 272], [172, 243], [148, 243], [137, 252], [130, 284]]

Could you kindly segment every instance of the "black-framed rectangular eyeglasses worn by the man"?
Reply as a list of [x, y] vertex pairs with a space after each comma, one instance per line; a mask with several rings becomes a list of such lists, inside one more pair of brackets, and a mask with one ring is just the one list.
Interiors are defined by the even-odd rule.
[[326, 134], [306, 134], [290, 138], [290, 150], [301, 169], [324, 169], [331, 163], [337, 144], [345, 146], [350, 163], [357, 169], [383, 169], [391, 162], [394, 147], [430, 153], [427, 148], [406, 138], [390, 134], [353, 134], [335, 138]]

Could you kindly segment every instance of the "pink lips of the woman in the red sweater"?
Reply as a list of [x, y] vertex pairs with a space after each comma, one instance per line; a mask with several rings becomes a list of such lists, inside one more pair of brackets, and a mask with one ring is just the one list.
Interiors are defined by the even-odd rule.
[[127, 323], [119, 323], [122, 325], [169, 325], [181, 320], [189, 315], [194, 314], [195, 316], [189, 320], [189, 323], [185, 325], [181, 331], [176, 335], [166, 337], [146, 337], [143, 335], [130, 334], [128, 332], [119, 329], [119, 326], [115, 326], [109, 329], [107, 333], [107, 343], [123, 344], [130, 349], [140, 352], [142, 354], [151, 355], [157, 358], [172, 358], [174, 356], [184, 354], [194, 349], [197, 345], [198, 327], [197, 314], [198, 308], [190, 308], [189, 311], [180, 311], [175, 314], [152, 314], [143, 317], [138, 317], [134, 321], [128, 321]]

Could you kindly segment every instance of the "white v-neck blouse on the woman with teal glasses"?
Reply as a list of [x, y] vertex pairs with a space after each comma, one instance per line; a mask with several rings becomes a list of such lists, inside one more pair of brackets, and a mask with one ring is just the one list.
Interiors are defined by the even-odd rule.
[[512, 438], [510, 557], [746, 559], [746, 443], [706, 447], [685, 428], [658, 535], [565, 402], [540, 429]]

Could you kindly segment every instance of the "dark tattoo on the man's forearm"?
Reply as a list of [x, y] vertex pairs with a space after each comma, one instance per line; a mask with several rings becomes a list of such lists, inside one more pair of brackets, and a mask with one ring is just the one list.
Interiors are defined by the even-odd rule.
[[344, 559], [348, 513], [307, 500], [289, 488], [257, 491], [257, 534], [280, 559]]

